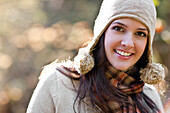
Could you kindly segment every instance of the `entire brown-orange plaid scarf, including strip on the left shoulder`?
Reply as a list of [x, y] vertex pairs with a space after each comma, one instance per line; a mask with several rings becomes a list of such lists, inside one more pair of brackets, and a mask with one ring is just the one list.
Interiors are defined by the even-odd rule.
[[[60, 66], [60, 67], [57, 67], [57, 70], [62, 72], [64, 75], [69, 76], [70, 78], [77, 79], [77, 80], [80, 78], [80, 75], [76, 72], [74, 68]], [[134, 101], [132, 100], [130, 96], [134, 94], [136, 95], [136, 99], [138, 100], [139, 104], [141, 105], [145, 104], [146, 106], [148, 106], [145, 102], [146, 99], [144, 99], [147, 97], [143, 95], [145, 96], [143, 98], [143, 96], [141, 95], [144, 82], [140, 80], [136, 80], [136, 78], [134, 79], [132, 76], [130, 76], [130, 74], [134, 73], [132, 72], [133, 70], [135, 69], [133, 68], [126, 72], [122, 72], [122, 71], [116, 70], [114, 67], [112, 67], [109, 64], [107, 64], [106, 66], [106, 70], [105, 70], [106, 78], [109, 80], [110, 84], [113, 87], [127, 94], [127, 100], [129, 102], [129, 103], [120, 103], [118, 101], [108, 101], [109, 108], [111, 109], [112, 113], [134, 113], [133, 108], [136, 108], [135, 109], [136, 113], [141, 113], [141, 111], [137, 108], [136, 104], [134, 103]], [[152, 108], [154, 106], [148, 106], [148, 107], [150, 107], [149, 113], [153, 113]], [[147, 111], [142, 111], [142, 112], [147, 112]]]

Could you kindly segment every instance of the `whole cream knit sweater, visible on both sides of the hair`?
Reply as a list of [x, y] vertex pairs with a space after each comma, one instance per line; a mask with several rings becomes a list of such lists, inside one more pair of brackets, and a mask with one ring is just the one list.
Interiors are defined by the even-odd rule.
[[[43, 69], [26, 113], [74, 113], [73, 102], [76, 92], [72, 81], [69, 77], [57, 71], [56, 67], [56, 64], [50, 64]], [[73, 82], [77, 88], [79, 81]], [[145, 85], [144, 92], [163, 111], [160, 96], [156, 90], [152, 86]], [[85, 99], [85, 103], [90, 104], [88, 98]], [[80, 113], [96, 113], [85, 103], [81, 104]]]

